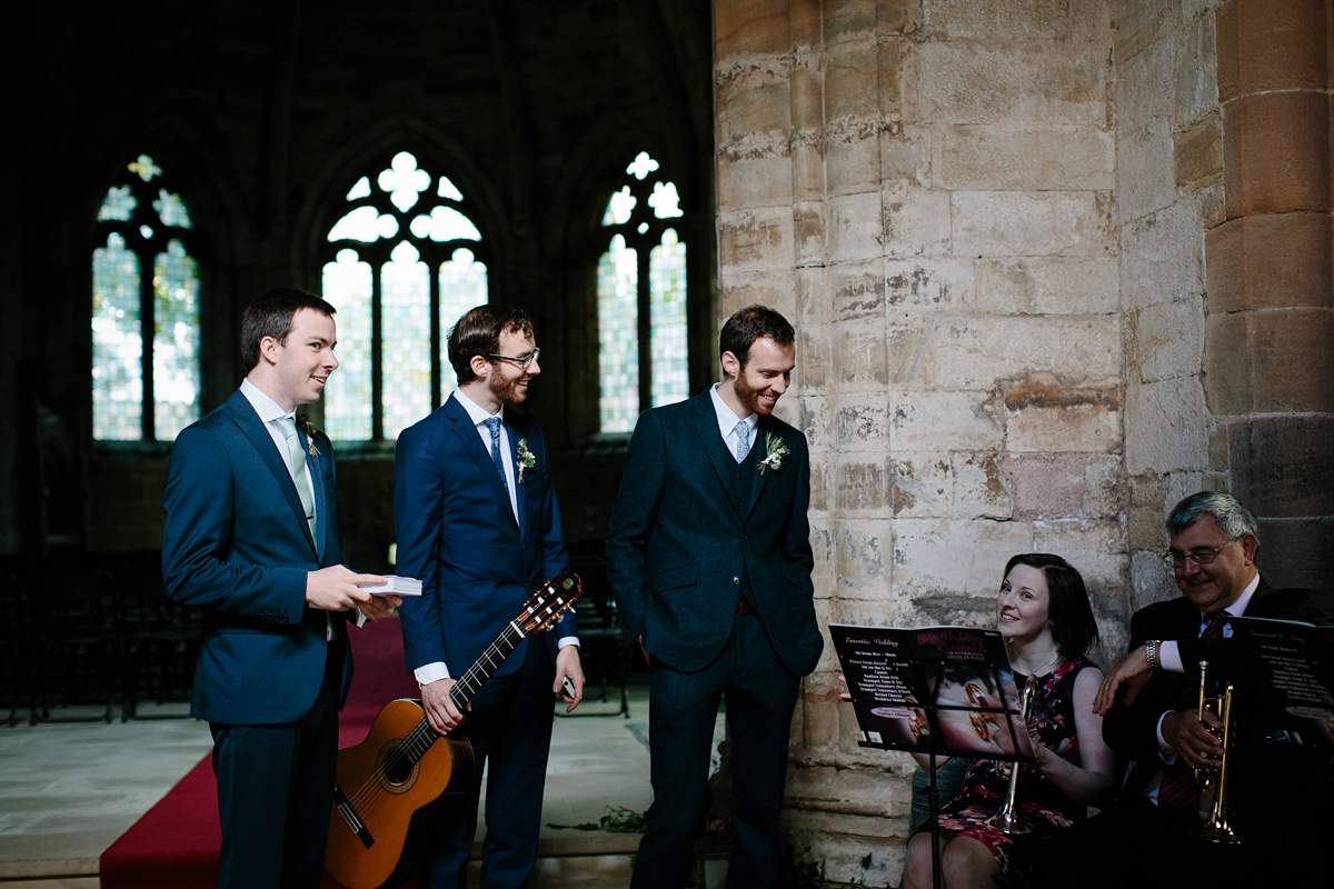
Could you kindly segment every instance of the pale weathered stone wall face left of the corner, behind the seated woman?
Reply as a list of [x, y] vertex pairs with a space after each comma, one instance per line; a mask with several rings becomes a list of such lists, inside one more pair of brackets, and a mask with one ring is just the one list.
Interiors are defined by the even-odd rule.
[[[994, 626], [1009, 556], [1129, 614], [1113, 7], [715, 3], [720, 309], [798, 327], [816, 594], [843, 622]], [[787, 826], [894, 884], [906, 754], [862, 750], [826, 652]]]

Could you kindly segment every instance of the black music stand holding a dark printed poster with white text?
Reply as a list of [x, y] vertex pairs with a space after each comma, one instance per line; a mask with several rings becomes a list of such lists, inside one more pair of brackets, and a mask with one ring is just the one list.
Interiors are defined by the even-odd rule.
[[1034, 762], [1019, 690], [995, 630], [830, 624], [858, 745], [927, 754], [931, 882], [940, 889], [936, 757]]

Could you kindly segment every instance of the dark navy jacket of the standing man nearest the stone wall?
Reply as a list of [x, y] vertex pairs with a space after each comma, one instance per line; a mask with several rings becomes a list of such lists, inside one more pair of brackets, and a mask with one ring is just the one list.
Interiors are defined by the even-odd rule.
[[806, 436], [760, 416], [754, 448], [780, 439], [782, 466], [751, 480], [732, 501], [736, 460], [706, 389], [639, 417], [626, 450], [607, 534], [607, 564], [630, 638], [682, 670], [707, 666], [732, 632], [742, 577], [783, 664], [806, 676], [824, 641], [811, 584], [810, 452]]

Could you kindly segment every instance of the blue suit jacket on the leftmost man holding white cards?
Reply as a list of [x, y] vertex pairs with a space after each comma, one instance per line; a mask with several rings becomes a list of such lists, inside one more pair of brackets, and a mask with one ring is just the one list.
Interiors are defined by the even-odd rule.
[[[299, 431], [303, 446], [309, 448]], [[340, 657], [352, 680], [343, 612], [307, 606], [305, 574], [339, 564], [334, 448], [315, 435], [305, 465], [315, 493], [311, 538], [296, 485], [240, 391], [185, 428], [167, 466], [163, 573], [167, 594], [203, 609], [191, 713], [209, 722], [273, 724], [304, 716]], [[334, 641], [325, 641], [325, 617]]]

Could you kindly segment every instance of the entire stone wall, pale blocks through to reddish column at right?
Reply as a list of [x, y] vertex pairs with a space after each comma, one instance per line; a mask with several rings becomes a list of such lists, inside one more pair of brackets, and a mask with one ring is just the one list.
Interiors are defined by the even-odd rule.
[[[719, 0], [719, 295], [796, 321], [832, 621], [992, 624], [1018, 550], [1095, 598], [1105, 664], [1177, 594], [1202, 488], [1262, 569], [1334, 582], [1329, 0]], [[832, 652], [787, 828], [894, 884], [911, 762], [863, 752]]]

